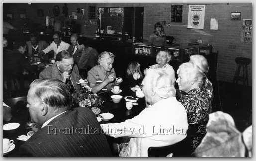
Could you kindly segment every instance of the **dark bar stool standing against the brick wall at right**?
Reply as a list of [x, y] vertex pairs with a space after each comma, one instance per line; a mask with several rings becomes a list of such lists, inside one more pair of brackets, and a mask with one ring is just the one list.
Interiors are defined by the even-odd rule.
[[[237, 69], [232, 83], [234, 84], [236, 82], [237, 84], [238, 80], [243, 81], [243, 88], [245, 88], [245, 81], [246, 85], [248, 86], [247, 65], [250, 64], [251, 60], [245, 57], [237, 57], [235, 61], [237, 63]], [[243, 67], [243, 77], [239, 76], [241, 66]]]

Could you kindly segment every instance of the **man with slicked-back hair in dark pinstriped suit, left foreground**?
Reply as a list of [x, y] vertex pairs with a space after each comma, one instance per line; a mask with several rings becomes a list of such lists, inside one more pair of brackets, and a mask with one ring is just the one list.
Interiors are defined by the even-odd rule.
[[85, 107], [72, 109], [71, 93], [60, 80], [33, 81], [27, 102], [31, 121], [41, 129], [20, 146], [20, 156], [111, 156], [94, 113]]

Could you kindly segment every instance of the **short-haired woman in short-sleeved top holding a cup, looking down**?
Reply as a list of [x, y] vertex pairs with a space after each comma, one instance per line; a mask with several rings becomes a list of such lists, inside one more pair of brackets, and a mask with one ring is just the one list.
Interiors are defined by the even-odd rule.
[[99, 55], [98, 65], [88, 71], [87, 80], [92, 88], [92, 92], [110, 91], [113, 86], [122, 83], [123, 79], [116, 79], [115, 70], [112, 68], [114, 57], [114, 54], [111, 52], [102, 52]]

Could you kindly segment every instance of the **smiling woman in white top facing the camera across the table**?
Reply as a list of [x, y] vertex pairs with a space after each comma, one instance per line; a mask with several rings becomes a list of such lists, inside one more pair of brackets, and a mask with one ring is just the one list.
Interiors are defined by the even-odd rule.
[[[150, 69], [157, 68], [170, 68], [173, 70], [172, 66], [169, 65], [169, 61], [173, 58], [173, 52], [168, 48], [161, 48], [158, 54], [156, 55], [156, 63], [155, 65], [149, 66]], [[146, 74], [148, 68], [144, 70], [144, 74]]]

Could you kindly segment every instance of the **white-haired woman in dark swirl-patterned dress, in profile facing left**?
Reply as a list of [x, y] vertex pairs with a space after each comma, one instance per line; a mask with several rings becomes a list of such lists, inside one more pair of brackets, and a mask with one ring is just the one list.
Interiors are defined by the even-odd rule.
[[[198, 66], [191, 62], [183, 63], [177, 70], [179, 90], [185, 92], [180, 102], [187, 111], [189, 131], [188, 137], [191, 137], [191, 154], [201, 142], [205, 131], [198, 130], [199, 127], [205, 127], [209, 120], [209, 114], [212, 111], [211, 98], [207, 94], [204, 86], [205, 75], [200, 72]], [[202, 126], [201, 126], [202, 125]]]

